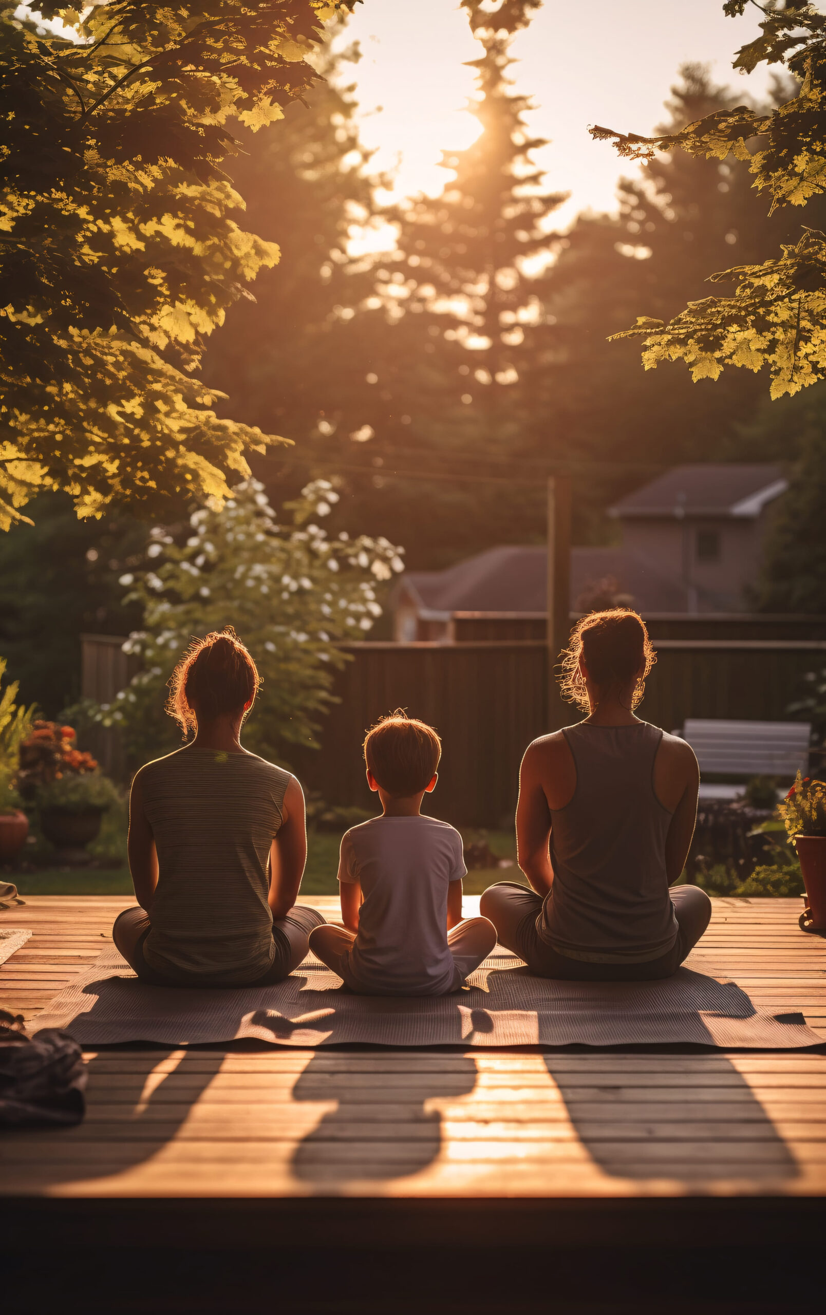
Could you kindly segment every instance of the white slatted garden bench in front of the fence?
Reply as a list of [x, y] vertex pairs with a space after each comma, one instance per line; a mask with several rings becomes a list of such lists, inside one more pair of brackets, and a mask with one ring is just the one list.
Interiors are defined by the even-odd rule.
[[[809, 722], [723, 722], [688, 718], [683, 739], [697, 755], [701, 776], [779, 776], [805, 773], [809, 761]], [[701, 785], [702, 798], [734, 798], [737, 785]]]

